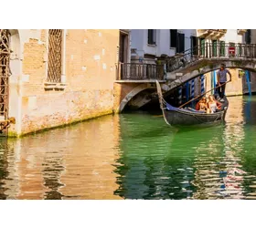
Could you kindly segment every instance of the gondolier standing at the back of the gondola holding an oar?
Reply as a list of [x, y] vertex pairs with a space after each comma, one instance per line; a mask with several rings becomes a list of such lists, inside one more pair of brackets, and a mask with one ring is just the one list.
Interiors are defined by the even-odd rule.
[[231, 74], [229, 69], [225, 68], [224, 64], [221, 64], [219, 71], [217, 72], [217, 82], [218, 82], [218, 93], [220, 101], [223, 101], [225, 95], [225, 88], [227, 83], [227, 74], [229, 74], [229, 81], [231, 81]]

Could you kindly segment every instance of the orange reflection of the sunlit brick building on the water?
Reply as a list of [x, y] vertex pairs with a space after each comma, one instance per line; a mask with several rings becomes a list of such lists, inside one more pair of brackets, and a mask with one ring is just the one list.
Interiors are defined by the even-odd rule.
[[1, 199], [118, 199], [119, 117], [1, 141]]

